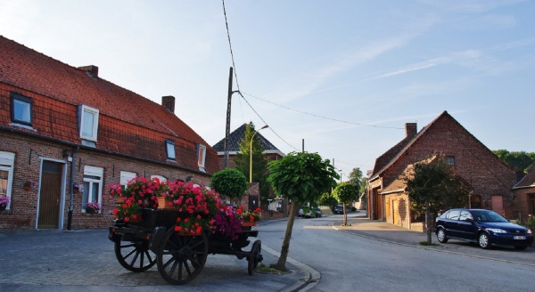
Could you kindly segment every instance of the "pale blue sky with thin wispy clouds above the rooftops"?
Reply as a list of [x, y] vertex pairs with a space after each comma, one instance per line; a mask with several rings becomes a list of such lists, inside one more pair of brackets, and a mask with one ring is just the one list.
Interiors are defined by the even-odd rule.
[[343, 181], [444, 110], [490, 150], [535, 152], [535, 1], [0, 0], [0, 12], [4, 37], [157, 103], [175, 96], [211, 146], [232, 67], [230, 131], [268, 125], [279, 150], [317, 152]]

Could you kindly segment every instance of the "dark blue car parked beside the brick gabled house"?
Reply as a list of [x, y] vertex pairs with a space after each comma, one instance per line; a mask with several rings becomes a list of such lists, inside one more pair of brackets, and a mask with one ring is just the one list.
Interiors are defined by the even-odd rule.
[[525, 249], [533, 242], [530, 229], [509, 222], [498, 213], [485, 209], [457, 208], [436, 218], [436, 235], [441, 243], [448, 239], [477, 242], [481, 248], [493, 244]]

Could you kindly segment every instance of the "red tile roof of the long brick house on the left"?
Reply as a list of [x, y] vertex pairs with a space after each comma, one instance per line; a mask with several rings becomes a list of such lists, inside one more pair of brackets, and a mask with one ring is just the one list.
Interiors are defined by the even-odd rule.
[[[80, 144], [77, 108], [85, 104], [100, 112], [97, 149], [165, 161], [164, 140], [171, 139], [177, 165], [198, 169], [200, 143], [207, 147], [207, 171], [218, 171], [217, 152], [165, 107], [2, 36], [0, 83], [12, 85], [4, 86], [2, 99], [9, 97], [7, 90], [32, 98], [37, 134]], [[9, 109], [2, 104], [11, 101], [0, 102], [0, 125], [8, 126]]]

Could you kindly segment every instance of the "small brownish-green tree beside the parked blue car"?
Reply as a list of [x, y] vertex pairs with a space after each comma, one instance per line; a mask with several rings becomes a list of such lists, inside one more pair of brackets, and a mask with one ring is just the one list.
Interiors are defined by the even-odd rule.
[[425, 214], [427, 243], [431, 244], [433, 215], [438, 215], [440, 210], [465, 206], [469, 186], [441, 157], [416, 163], [413, 172], [402, 175], [402, 179], [407, 183], [405, 191], [411, 200], [411, 212]]

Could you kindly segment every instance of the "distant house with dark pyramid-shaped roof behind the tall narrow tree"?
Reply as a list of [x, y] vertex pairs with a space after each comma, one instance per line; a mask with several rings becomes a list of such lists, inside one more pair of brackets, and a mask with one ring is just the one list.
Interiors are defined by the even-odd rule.
[[[228, 151], [228, 167], [235, 167], [234, 159], [236, 157], [236, 153], [240, 151], [240, 142], [243, 141], [243, 137], [245, 137], [245, 130], [247, 128], [247, 124], [243, 124], [242, 126], [239, 126], [235, 131], [230, 133], [228, 135], [228, 144], [226, 146], [226, 149]], [[269, 142], [266, 137], [264, 137], [260, 132], [257, 132], [256, 136], [259, 138], [260, 146], [264, 149], [262, 154], [264, 155], [264, 158], [268, 159], [268, 161], [272, 160], [279, 160], [284, 158], [285, 154], [281, 152], [281, 150], [278, 150], [276, 146]], [[217, 142], [215, 145], [213, 145], [214, 150], [218, 151], [218, 161], [219, 161], [219, 167], [224, 168], [225, 166], [225, 138], [221, 139], [221, 141]], [[257, 184], [255, 186], [255, 184]], [[256, 191], [255, 191], [256, 190]], [[246, 198], [249, 198], [251, 201], [251, 198], [259, 198], [259, 187], [258, 183], [250, 183], [248, 190], [246, 191], [248, 196], [245, 196]], [[256, 196], [256, 197], [255, 197]], [[250, 206], [251, 204], [245, 204], [247, 199], [243, 201], [243, 206]], [[269, 210], [274, 211], [281, 211], [285, 214], [285, 211], [287, 210], [287, 202], [286, 199], [274, 199], [271, 202], [271, 205], [268, 207]], [[278, 214], [271, 212], [271, 216], [276, 216]]]

